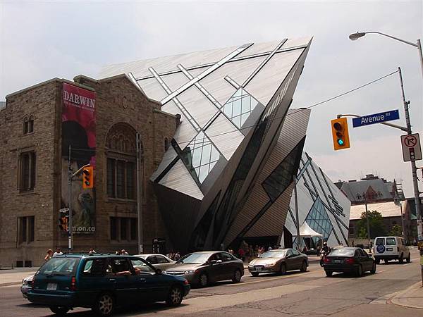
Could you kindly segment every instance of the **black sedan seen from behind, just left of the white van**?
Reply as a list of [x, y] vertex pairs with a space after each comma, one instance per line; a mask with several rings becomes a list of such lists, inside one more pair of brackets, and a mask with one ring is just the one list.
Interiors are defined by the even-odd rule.
[[326, 276], [333, 272], [350, 272], [361, 276], [363, 272], [376, 273], [376, 261], [361, 248], [333, 249], [324, 259], [323, 268]]

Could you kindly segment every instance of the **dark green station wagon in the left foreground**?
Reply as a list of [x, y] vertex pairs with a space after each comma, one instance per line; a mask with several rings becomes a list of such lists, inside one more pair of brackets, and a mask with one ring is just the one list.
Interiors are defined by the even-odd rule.
[[68, 254], [39, 268], [27, 298], [57, 314], [87, 307], [110, 316], [115, 306], [161, 301], [178, 306], [189, 291], [185, 278], [162, 274], [137, 256]]

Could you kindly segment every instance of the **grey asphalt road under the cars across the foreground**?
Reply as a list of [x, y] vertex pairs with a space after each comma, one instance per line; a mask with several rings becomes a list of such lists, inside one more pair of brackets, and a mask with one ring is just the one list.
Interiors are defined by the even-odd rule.
[[[420, 280], [417, 250], [412, 262], [377, 266], [374, 275], [355, 278], [334, 274], [326, 278], [319, 263], [305, 273], [260, 275], [247, 271], [239, 284], [220, 282], [194, 289], [183, 304], [168, 308], [164, 303], [118, 309], [115, 316], [423, 316], [423, 310], [392, 304], [390, 299]], [[1, 316], [54, 316], [47, 307], [35, 306], [20, 295], [19, 287], [0, 287]], [[90, 310], [75, 309], [71, 317], [92, 316]]]

